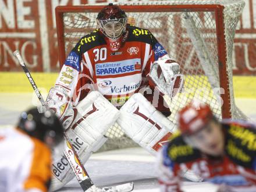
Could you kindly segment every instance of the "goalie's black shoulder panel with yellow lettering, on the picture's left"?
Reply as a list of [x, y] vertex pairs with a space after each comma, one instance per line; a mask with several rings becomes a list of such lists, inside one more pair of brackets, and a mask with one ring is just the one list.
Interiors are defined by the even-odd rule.
[[85, 35], [79, 40], [79, 42], [77, 43], [77, 51], [86, 52], [87, 50], [102, 44], [105, 44], [105, 41], [99, 35], [99, 30], [97, 29], [90, 34]]

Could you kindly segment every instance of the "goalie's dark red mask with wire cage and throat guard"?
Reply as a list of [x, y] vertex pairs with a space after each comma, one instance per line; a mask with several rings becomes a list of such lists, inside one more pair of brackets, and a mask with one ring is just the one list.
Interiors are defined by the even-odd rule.
[[122, 35], [126, 31], [127, 16], [125, 12], [113, 3], [105, 6], [97, 16], [99, 30], [108, 38], [107, 43], [112, 51], [121, 46]]

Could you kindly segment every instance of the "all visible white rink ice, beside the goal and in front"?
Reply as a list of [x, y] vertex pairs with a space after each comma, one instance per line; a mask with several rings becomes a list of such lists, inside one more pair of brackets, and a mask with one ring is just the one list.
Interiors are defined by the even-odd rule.
[[[39, 103], [31, 93], [1, 93], [0, 100], [0, 128], [15, 125], [21, 111]], [[236, 99], [236, 104], [256, 122], [256, 99]], [[95, 153], [85, 164], [85, 168], [96, 186], [133, 181], [134, 191], [155, 192], [159, 189], [154, 165], [155, 157], [138, 147]], [[184, 182], [183, 190], [185, 192], [214, 192], [216, 186], [204, 182]], [[74, 178], [59, 191], [82, 190]]]

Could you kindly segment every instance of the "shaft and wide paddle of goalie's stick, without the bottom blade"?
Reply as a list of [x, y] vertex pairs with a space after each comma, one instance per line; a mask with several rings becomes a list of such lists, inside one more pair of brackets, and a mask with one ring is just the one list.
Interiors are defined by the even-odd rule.
[[[37, 85], [34, 82], [34, 79], [32, 78], [28, 68], [26, 67], [26, 64], [24, 63], [22, 56], [20, 56], [20, 53], [18, 50], [13, 52], [13, 55], [17, 57], [19, 60], [20, 66], [22, 66], [25, 74], [27, 75], [27, 78], [30, 81], [31, 86], [33, 87], [38, 99], [40, 100], [42, 106], [44, 106], [44, 99], [42, 98], [42, 95], [40, 91], [37, 88]], [[66, 138], [66, 146], [65, 146], [65, 151], [64, 154], [69, 162], [70, 167], [72, 168], [74, 175], [76, 176], [77, 180], [79, 181], [79, 184], [81, 188], [86, 191], [90, 189], [91, 186], [93, 186], [93, 182], [88, 176], [88, 173], [86, 172], [86, 169], [84, 168], [83, 164], [81, 164], [78, 155], [76, 154], [76, 151], [74, 150], [72, 144], [70, 143], [70, 140], [65, 134]]]

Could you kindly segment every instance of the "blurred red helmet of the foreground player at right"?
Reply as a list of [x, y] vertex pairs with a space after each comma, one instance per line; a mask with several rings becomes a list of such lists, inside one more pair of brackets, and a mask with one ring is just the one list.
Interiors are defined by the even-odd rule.
[[178, 114], [178, 123], [183, 135], [191, 135], [200, 129], [214, 117], [208, 104], [195, 102], [189, 103]]

